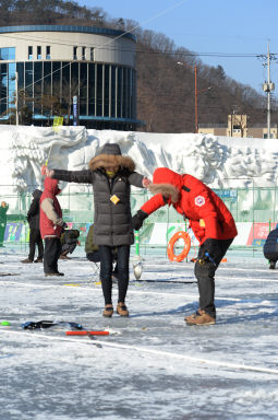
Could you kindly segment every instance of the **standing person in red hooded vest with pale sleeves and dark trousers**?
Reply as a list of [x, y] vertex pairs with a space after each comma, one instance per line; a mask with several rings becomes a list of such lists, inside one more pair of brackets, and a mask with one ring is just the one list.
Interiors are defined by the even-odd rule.
[[63, 276], [58, 271], [58, 259], [62, 250], [61, 233], [67, 224], [62, 219], [62, 210], [57, 199], [61, 192], [58, 179], [46, 178], [45, 190], [40, 197], [39, 229], [45, 241], [44, 271], [45, 276]]

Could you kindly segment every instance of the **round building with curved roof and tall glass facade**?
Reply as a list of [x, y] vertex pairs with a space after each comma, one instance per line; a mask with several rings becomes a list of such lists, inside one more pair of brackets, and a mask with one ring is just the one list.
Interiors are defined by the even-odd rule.
[[[95, 26], [0, 27], [0, 121], [134, 130], [136, 38]], [[25, 122], [26, 124], [26, 122]]]

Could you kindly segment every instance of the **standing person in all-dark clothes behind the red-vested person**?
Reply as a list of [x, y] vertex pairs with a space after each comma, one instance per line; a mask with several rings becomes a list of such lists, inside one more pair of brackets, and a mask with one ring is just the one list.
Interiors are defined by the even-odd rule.
[[32, 264], [34, 261], [36, 245], [38, 247], [38, 256], [34, 262], [43, 262], [44, 258], [44, 243], [39, 230], [39, 199], [43, 191], [35, 189], [32, 192], [33, 200], [27, 212], [27, 221], [29, 224], [29, 255], [26, 259], [23, 259], [23, 264]]

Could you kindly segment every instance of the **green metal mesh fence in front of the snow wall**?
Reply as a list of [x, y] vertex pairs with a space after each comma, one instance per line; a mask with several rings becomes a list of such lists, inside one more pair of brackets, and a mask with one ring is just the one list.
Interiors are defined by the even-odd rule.
[[[256, 224], [264, 224], [269, 226], [268, 230], [276, 226], [278, 219], [278, 202], [277, 202], [277, 186], [269, 188], [259, 188], [254, 186], [253, 179], [252, 187], [245, 188], [226, 188], [215, 189], [215, 192], [223, 200], [226, 206], [231, 211], [235, 222], [238, 223], [251, 223], [253, 229], [252, 245], [262, 245], [259, 240], [255, 237]], [[80, 186], [80, 185], [78, 185]], [[7, 187], [10, 188], [9, 194]], [[0, 186], [0, 201], [7, 201], [10, 205], [8, 211], [8, 223], [5, 228], [4, 241], [9, 243], [17, 243], [24, 245], [28, 242], [28, 224], [26, 221], [26, 214], [29, 208], [29, 203], [33, 199], [31, 192], [11, 192], [12, 186]], [[94, 199], [92, 186], [84, 187], [86, 190], [83, 192], [74, 192], [73, 189], [76, 185], [71, 184], [68, 194], [59, 196], [59, 201], [63, 209], [63, 218], [71, 225], [81, 230], [81, 241], [84, 242], [88, 226], [94, 221]], [[8, 188], [8, 189], [9, 189]], [[35, 189], [35, 187], [34, 187]], [[146, 190], [133, 191], [131, 194], [131, 210], [135, 213], [142, 205], [150, 197]], [[155, 213], [150, 214], [146, 219], [142, 231], [141, 238], [147, 244], [149, 240], [154, 224], [161, 223], [166, 225], [165, 243], [167, 244], [169, 226], [172, 224], [183, 225], [183, 218], [172, 208], [165, 206], [158, 209]], [[264, 228], [266, 229], [266, 228]]]

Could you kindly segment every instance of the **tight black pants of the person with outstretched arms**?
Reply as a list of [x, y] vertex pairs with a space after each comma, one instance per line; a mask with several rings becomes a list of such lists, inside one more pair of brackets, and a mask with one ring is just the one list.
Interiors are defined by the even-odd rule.
[[[129, 280], [130, 280], [130, 245], [117, 246], [117, 278], [118, 278], [118, 302], [124, 302]], [[102, 293], [105, 296], [105, 304], [112, 303], [112, 265], [114, 253], [112, 246], [99, 245], [100, 255], [100, 279], [102, 285]]]

